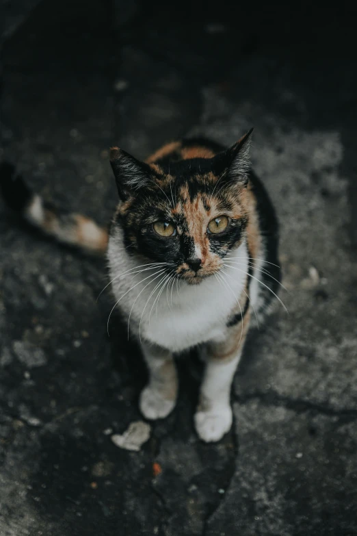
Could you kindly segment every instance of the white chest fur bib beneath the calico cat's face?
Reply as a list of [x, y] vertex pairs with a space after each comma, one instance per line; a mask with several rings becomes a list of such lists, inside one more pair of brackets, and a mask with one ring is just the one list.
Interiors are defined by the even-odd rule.
[[109, 240], [110, 276], [116, 278], [112, 290], [128, 320], [130, 316], [130, 327], [136, 335], [173, 352], [225, 336], [227, 319], [237, 307], [246, 283], [245, 243], [230, 255], [231, 259], [239, 259], [239, 270], [227, 266], [220, 275], [204, 279], [199, 285], [174, 283], [172, 292], [168, 285], [156, 303], [160, 268], [133, 273], [142, 268], [135, 270], [137, 263], [120, 244], [118, 234]]

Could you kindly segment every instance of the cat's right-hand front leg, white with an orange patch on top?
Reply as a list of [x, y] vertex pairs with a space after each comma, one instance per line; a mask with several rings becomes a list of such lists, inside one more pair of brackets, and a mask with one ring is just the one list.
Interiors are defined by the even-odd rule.
[[207, 364], [194, 417], [196, 431], [205, 442], [218, 441], [232, 426], [230, 387], [246, 340], [249, 317], [248, 312], [243, 324], [228, 328], [224, 342], [207, 344]]

